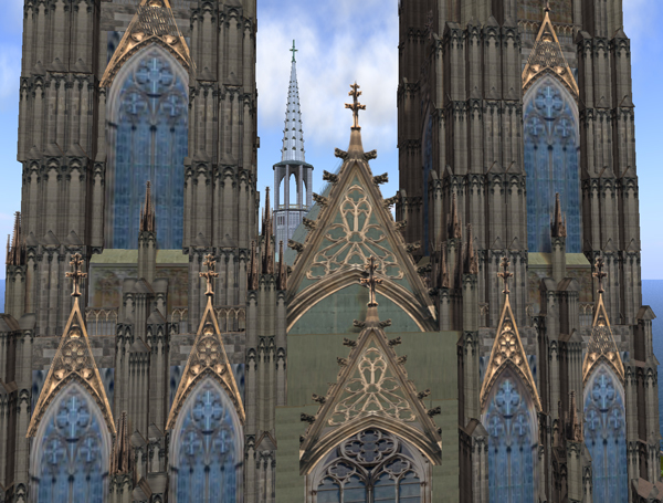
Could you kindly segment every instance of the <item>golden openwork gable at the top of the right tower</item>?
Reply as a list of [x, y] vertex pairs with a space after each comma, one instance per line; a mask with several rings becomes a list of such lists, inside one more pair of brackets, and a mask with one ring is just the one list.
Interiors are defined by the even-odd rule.
[[561, 78], [573, 96], [577, 97], [580, 94], [578, 84], [571, 74], [571, 69], [561, 51], [559, 39], [547, 10], [534, 48], [523, 71], [523, 92], [525, 93], [539, 76], [546, 73]]

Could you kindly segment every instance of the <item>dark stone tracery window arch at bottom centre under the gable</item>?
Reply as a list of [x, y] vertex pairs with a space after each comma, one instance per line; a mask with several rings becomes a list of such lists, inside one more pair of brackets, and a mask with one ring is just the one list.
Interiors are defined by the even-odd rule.
[[309, 476], [308, 502], [423, 503], [430, 465], [402, 439], [369, 428], [344, 441]]

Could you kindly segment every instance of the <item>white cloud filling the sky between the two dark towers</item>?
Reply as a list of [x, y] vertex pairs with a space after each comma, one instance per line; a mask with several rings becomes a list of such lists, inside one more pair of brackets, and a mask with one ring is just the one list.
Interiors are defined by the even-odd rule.
[[[294, 4], [293, 4], [294, 3]], [[297, 76], [304, 139], [309, 147], [345, 148], [351, 114], [345, 109], [357, 81], [367, 111], [360, 123], [367, 149], [396, 146], [398, 14], [396, 0], [288, 2], [260, 13], [257, 86], [261, 134], [283, 129], [292, 40], [297, 40]]]

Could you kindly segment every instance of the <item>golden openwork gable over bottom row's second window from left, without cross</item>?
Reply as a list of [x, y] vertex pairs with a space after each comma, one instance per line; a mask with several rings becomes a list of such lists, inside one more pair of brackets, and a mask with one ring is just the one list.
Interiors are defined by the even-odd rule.
[[208, 376], [221, 384], [233, 402], [240, 421], [244, 425], [246, 416], [242, 397], [234, 379], [232, 367], [228, 360], [228, 355], [225, 354], [223, 337], [221, 336], [219, 322], [212, 307], [211, 295], [208, 296], [207, 307], [198, 326], [193, 348], [189, 354], [187, 367], [182, 374], [170, 413], [168, 415], [167, 430], [171, 430], [175, 427], [177, 416], [190, 392], [196, 388], [196, 385]]

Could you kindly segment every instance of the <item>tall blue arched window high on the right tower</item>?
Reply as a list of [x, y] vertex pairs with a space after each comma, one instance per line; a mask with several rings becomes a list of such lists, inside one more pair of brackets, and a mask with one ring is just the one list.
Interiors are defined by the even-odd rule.
[[560, 81], [547, 75], [525, 94], [523, 122], [528, 249], [550, 253], [550, 219], [559, 193], [567, 219], [567, 252], [580, 253], [578, 105]]

